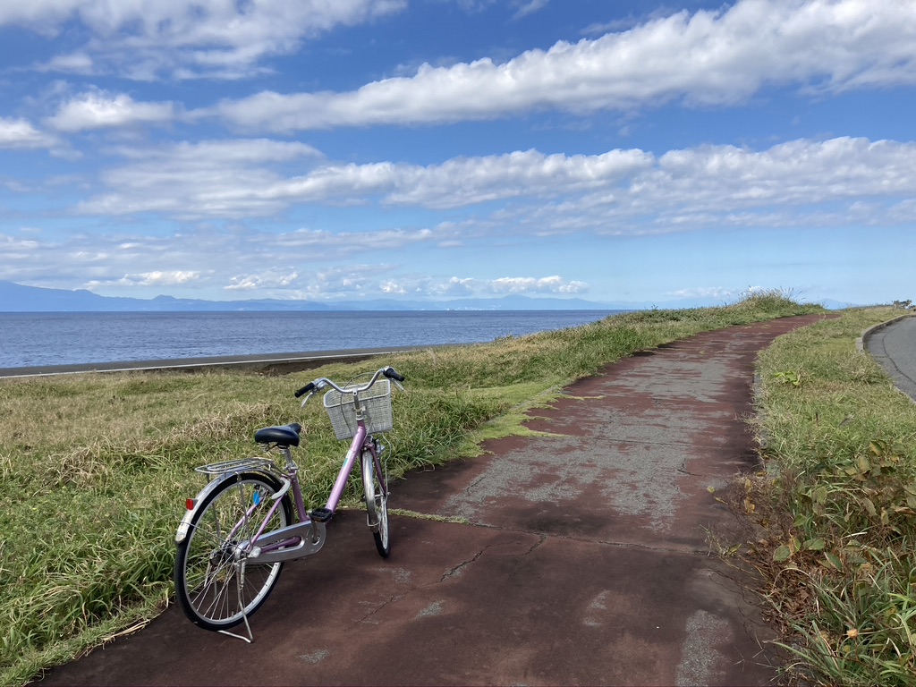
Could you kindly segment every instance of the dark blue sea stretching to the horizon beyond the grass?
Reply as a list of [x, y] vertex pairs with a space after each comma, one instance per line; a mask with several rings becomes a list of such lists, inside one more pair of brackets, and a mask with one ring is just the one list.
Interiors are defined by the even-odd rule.
[[0, 312], [0, 368], [477, 344], [618, 312]]

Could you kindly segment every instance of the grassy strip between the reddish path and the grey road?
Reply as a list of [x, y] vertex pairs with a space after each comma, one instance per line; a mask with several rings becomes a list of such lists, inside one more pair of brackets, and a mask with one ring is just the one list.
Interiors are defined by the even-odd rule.
[[797, 663], [824, 685], [916, 685], [916, 404], [856, 338], [900, 311], [844, 311], [761, 354], [767, 476], [744, 507]]

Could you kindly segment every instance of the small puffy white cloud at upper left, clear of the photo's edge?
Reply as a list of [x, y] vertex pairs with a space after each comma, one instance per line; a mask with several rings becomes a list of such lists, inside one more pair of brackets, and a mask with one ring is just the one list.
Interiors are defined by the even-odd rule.
[[175, 116], [171, 103], [137, 103], [125, 93], [103, 91], [82, 93], [61, 104], [48, 125], [65, 132], [84, 131], [136, 124], [162, 124]]

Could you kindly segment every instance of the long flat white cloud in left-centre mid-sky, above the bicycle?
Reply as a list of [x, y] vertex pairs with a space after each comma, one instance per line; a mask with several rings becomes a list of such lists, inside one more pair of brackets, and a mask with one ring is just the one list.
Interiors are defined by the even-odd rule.
[[[594, 156], [544, 155], [537, 150], [442, 165], [378, 162], [315, 164], [319, 153], [299, 143], [219, 141], [172, 147], [123, 148], [132, 163], [104, 174], [113, 193], [84, 202], [82, 213], [165, 212], [178, 216], [256, 216], [306, 202], [379, 202], [457, 208], [518, 197], [605, 188], [650, 169], [641, 150]], [[280, 177], [265, 165], [306, 158], [311, 167]]]

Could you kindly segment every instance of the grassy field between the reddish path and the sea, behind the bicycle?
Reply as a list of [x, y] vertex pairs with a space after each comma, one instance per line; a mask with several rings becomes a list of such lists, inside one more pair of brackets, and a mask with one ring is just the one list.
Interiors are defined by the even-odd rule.
[[[474, 455], [521, 433], [526, 409], [638, 350], [734, 324], [821, 311], [787, 294], [721, 308], [639, 311], [584, 327], [446, 347], [289, 376], [116, 373], [0, 380], [0, 683], [22, 684], [156, 616], [172, 594], [174, 532], [198, 464], [256, 453], [252, 436], [298, 421], [310, 507], [323, 505], [343, 444], [320, 403], [291, 392], [316, 376], [395, 365], [408, 393], [387, 434], [393, 476]], [[351, 503], [356, 495], [348, 496]], [[895, 520], [896, 521], [896, 520]]]

